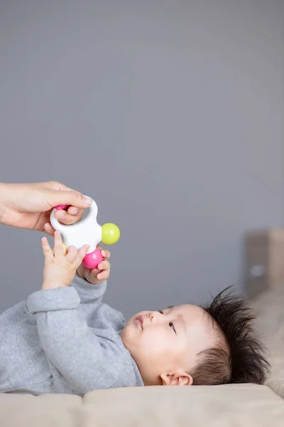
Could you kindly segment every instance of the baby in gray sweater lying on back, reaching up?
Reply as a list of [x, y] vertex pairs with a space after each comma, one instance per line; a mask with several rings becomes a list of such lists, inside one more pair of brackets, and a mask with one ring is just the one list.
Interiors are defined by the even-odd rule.
[[64, 253], [58, 231], [54, 255], [42, 243], [41, 290], [0, 315], [0, 392], [82, 396], [125, 386], [263, 383], [269, 364], [238, 297], [144, 311], [125, 325], [102, 302], [106, 282], [94, 285], [99, 280], [82, 265], [87, 246]]

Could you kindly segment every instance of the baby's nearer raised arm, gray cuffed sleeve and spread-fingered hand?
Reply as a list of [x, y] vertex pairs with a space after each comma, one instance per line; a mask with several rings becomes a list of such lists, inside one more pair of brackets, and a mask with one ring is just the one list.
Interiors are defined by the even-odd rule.
[[[88, 247], [63, 251], [60, 233], [55, 231], [55, 249], [42, 239], [45, 265], [40, 291], [28, 297], [28, 311], [36, 315], [40, 343], [50, 362], [79, 394], [116, 384], [121, 351], [111, 337], [101, 339], [80, 316], [80, 296], [70, 284], [82, 264]], [[104, 286], [102, 285], [101, 296]], [[97, 290], [93, 290], [97, 295]], [[97, 295], [98, 296], [98, 295]], [[100, 298], [98, 297], [98, 298]]]

